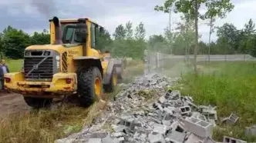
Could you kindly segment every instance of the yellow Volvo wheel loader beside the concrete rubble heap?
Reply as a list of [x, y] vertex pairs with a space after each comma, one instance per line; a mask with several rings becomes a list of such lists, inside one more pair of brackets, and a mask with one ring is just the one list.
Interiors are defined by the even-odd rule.
[[104, 60], [97, 50], [103, 27], [89, 18], [54, 17], [49, 25], [51, 43], [25, 48], [23, 71], [5, 74], [5, 88], [22, 94], [34, 108], [70, 95], [89, 106], [101, 98], [103, 89], [113, 91], [123, 63]]

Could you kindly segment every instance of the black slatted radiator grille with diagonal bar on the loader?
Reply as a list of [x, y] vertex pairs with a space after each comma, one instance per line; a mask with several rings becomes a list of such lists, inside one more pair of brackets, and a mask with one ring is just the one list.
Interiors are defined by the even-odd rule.
[[34, 65], [39, 64], [45, 57], [25, 57], [24, 59], [24, 72], [25, 79], [31, 81], [51, 81], [53, 75], [53, 60], [48, 57], [42, 62], [37, 69], [34, 69], [29, 75]]

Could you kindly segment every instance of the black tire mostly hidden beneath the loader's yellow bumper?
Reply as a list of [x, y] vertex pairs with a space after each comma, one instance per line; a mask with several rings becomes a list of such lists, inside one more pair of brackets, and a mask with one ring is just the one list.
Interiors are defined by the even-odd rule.
[[32, 108], [47, 108], [52, 105], [52, 98], [23, 97], [27, 105]]

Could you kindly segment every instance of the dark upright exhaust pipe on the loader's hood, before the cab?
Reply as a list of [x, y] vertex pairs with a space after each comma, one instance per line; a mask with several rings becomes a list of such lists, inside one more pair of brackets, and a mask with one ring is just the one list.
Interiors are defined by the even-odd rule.
[[52, 18], [52, 21], [55, 25], [55, 43], [56, 45], [62, 44], [62, 27], [61, 24], [59, 22], [59, 18], [57, 18], [56, 16]]

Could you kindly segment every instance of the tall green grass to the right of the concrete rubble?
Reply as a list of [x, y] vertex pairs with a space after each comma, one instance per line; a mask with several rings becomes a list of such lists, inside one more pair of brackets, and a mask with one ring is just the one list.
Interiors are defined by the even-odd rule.
[[236, 125], [215, 128], [217, 141], [224, 135], [256, 141], [256, 137], [244, 136], [244, 128], [256, 124], [256, 63], [213, 62], [203, 66], [197, 76], [182, 76], [182, 93], [193, 96], [198, 105], [217, 105], [219, 117], [228, 117], [232, 112], [240, 117]]

